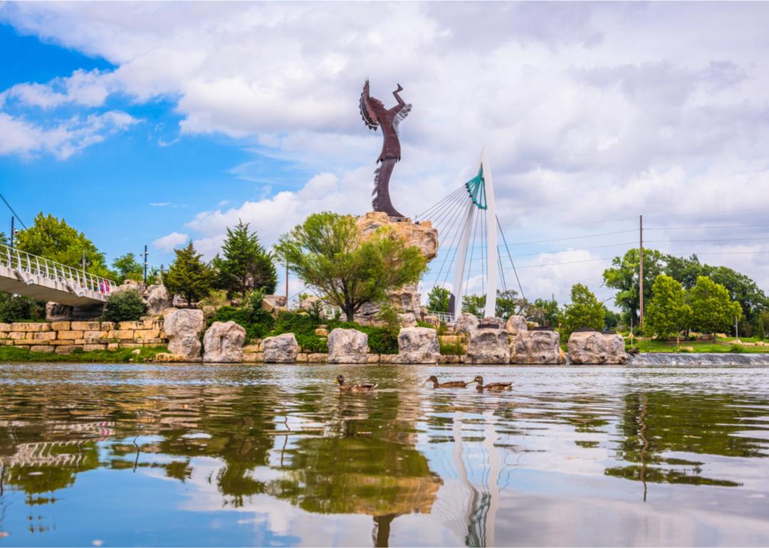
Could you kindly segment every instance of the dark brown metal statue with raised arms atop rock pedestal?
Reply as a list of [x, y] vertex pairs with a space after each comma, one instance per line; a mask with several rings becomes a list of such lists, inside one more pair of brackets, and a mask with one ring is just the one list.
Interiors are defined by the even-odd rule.
[[363, 121], [368, 128], [375, 131], [378, 127], [382, 128], [384, 137], [382, 151], [377, 159], [377, 163], [381, 162], [381, 166], [374, 172], [374, 192], [372, 194], [374, 199], [371, 201], [371, 205], [374, 207], [374, 211], [384, 211], [390, 217], [403, 217], [393, 208], [390, 201], [390, 175], [395, 163], [401, 160], [398, 124], [411, 112], [411, 105], [407, 105], [398, 95], [401, 91], [403, 88], [398, 84], [398, 89], [392, 92], [392, 95], [398, 100], [398, 105], [389, 110], [384, 108], [382, 101], [368, 95], [368, 80], [366, 80], [361, 93], [360, 108]]

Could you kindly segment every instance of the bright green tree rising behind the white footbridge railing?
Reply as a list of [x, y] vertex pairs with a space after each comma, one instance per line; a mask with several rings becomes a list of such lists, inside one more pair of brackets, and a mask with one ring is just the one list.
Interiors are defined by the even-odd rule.
[[71, 267], [82, 266], [85, 252], [88, 272], [104, 277], [114, 276], [106, 265], [104, 254], [85, 234], [51, 214], [38, 213], [31, 228], [18, 232], [16, 247]]

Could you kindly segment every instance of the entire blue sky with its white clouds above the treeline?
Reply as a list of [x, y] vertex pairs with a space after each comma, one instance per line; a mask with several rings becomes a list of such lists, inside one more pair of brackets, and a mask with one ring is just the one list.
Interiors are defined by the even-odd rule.
[[168, 264], [188, 239], [211, 257], [238, 219], [271, 245], [371, 209], [371, 78], [414, 105], [395, 207], [458, 188], [485, 145], [527, 297], [611, 299], [639, 214], [654, 247], [767, 288], [769, 230], [746, 226], [769, 209], [767, 6], [6, 2], [0, 189], [110, 260], [148, 244]]

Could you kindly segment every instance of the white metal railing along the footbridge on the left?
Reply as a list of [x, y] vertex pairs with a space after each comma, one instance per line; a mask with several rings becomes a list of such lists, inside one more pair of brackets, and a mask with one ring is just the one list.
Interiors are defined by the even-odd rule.
[[[57, 263], [45, 257], [38, 257], [38, 255], [3, 244], [0, 244], [0, 264], [16, 271], [17, 275], [22, 273], [62, 282], [69, 291], [75, 294], [82, 294], [82, 290], [88, 290], [107, 297], [117, 287], [114, 281], [105, 277], [96, 276], [84, 272], [82, 269], [69, 267], [66, 264]], [[25, 281], [27, 284], [34, 283], [31, 278], [21, 281]]]

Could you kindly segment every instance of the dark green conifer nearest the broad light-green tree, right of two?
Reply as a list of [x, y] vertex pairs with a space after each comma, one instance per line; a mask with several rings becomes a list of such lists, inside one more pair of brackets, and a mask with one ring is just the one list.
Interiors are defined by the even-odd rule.
[[240, 294], [245, 299], [248, 291], [264, 289], [275, 293], [278, 272], [272, 256], [259, 243], [256, 232], [248, 232], [248, 223], [238, 221], [234, 229], [227, 229], [225, 243], [221, 246], [222, 257], [215, 257], [217, 287], [231, 296]]

